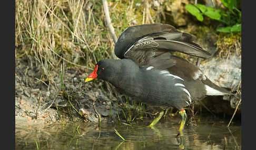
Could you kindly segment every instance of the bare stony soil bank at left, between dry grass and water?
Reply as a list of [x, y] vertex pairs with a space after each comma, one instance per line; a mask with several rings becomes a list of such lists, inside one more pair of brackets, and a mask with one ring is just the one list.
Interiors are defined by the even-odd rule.
[[[65, 90], [62, 88], [60, 72], [51, 72], [54, 77], [51, 82], [42, 77], [41, 70], [32, 59], [16, 59], [16, 123], [21, 121], [51, 124], [58, 121], [76, 120], [97, 122], [97, 115], [93, 109], [94, 100], [102, 121], [113, 120], [116, 116], [119, 108], [117, 103], [114, 103], [117, 100], [112, 98], [111, 102], [110, 95], [105, 95], [100, 90], [101, 83], [85, 84], [84, 79], [88, 74], [84, 73], [86, 71], [83, 69], [68, 68], [63, 73]], [[54, 85], [48, 86], [49, 84]], [[83, 115], [82, 117], [71, 104]]]

